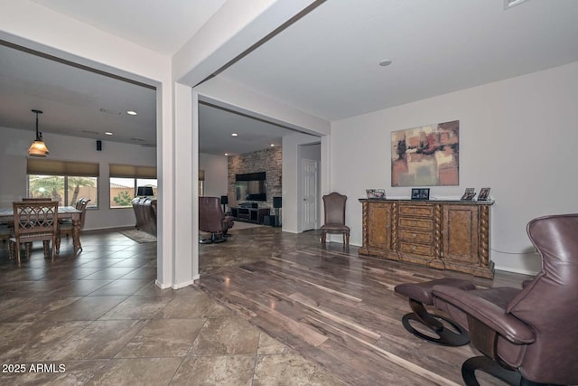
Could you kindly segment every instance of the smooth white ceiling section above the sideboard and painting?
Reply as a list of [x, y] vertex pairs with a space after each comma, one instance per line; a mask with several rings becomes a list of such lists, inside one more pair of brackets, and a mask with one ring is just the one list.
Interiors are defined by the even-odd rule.
[[338, 120], [572, 61], [575, 0], [329, 0], [221, 76]]

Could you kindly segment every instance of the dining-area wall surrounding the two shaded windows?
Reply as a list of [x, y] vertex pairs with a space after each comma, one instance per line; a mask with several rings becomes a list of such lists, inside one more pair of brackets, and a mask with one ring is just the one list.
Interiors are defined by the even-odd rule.
[[[26, 155], [34, 132], [15, 128], [0, 129], [0, 207], [12, 207], [12, 202], [26, 196]], [[68, 137], [42, 132], [51, 160], [92, 162], [100, 165], [98, 179], [98, 210], [89, 210], [85, 230], [117, 228], [135, 225], [132, 208], [109, 209], [108, 164], [155, 166], [154, 147], [115, 142], [102, 142], [97, 151], [96, 140]], [[9, 182], [9, 183], [7, 183]]]

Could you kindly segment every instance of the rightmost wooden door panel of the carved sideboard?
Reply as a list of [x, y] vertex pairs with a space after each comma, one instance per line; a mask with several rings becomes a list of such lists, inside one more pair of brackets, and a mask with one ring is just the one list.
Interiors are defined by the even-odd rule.
[[479, 208], [477, 205], [443, 206], [443, 259], [479, 264]]

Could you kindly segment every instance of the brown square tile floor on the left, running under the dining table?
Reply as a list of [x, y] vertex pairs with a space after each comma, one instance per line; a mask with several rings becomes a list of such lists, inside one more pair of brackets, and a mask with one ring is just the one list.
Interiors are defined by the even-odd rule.
[[[247, 245], [299, 245], [294, 235], [258, 233]], [[117, 231], [81, 240], [78, 257], [62, 240], [53, 263], [34, 245], [22, 268], [0, 244], [0, 384], [342, 384], [200, 289], [155, 287], [155, 242]]]

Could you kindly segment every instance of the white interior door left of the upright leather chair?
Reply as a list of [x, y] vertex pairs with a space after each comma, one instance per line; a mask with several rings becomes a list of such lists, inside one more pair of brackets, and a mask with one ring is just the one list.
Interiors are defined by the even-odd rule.
[[301, 160], [301, 230], [317, 228], [319, 161]]

